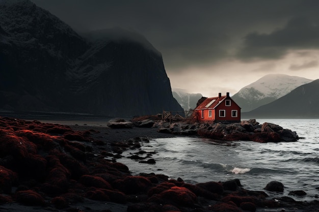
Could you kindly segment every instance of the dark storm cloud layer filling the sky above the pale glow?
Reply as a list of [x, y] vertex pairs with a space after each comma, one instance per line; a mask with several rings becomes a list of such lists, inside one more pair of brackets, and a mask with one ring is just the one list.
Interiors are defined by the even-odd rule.
[[79, 33], [111, 27], [138, 32], [175, 70], [209, 65], [234, 52], [245, 60], [279, 58], [319, 44], [315, 0], [32, 1]]

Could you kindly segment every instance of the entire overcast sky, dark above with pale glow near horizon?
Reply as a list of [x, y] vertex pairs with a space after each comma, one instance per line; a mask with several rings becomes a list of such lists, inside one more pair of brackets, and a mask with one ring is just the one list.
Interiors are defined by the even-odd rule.
[[172, 87], [234, 95], [267, 74], [319, 78], [317, 0], [32, 0], [81, 33], [121, 27], [162, 53]]

